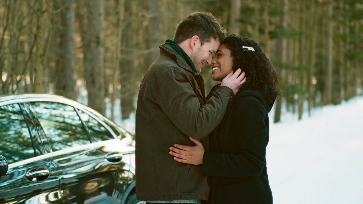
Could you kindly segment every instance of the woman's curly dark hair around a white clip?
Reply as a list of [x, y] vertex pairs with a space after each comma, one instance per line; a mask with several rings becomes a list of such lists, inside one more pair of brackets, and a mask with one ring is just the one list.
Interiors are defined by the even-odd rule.
[[[228, 36], [222, 44], [231, 50], [233, 72], [241, 68], [246, 73], [247, 81], [242, 84], [239, 91], [246, 89], [260, 91], [270, 103], [273, 103], [275, 98], [281, 95], [277, 86], [277, 74], [260, 45], [246, 37], [236, 35]], [[254, 51], [242, 46], [253, 47]]]

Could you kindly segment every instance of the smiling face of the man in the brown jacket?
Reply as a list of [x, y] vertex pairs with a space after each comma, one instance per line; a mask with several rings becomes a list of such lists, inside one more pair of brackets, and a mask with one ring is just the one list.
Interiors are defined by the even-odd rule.
[[200, 45], [199, 40], [198, 43], [199, 44], [195, 47], [195, 49], [192, 50], [190, 59], [192, 60], [197, 72], [200, 73], [200, 69], [204, 65], [211, 64], [212, 56], [217, 52], [220, 42], [219, 40], [212, 38], [210, 42], [204, 42], [203, 45]]

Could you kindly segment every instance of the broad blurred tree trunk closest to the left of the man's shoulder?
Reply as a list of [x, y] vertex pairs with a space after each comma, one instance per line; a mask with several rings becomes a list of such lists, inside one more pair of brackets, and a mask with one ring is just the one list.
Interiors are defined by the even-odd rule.
[[129, 18], [123, 35], [123, 66], [121, 67], [121, 111], [127, 119], [135, 111], [135, 96], [139, 91], [142, 76], [150, 66], [150, 22], [147, 15], [150, 7], [144, 1], [125, 1], [125, 16]]

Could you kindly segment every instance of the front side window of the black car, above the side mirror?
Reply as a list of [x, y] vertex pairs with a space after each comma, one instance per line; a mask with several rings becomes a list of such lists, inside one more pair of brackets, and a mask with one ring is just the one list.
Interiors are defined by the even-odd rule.
[[9, 164], [34, 157], [28, 127], [17, 103], [0, 107], [0, 155]]

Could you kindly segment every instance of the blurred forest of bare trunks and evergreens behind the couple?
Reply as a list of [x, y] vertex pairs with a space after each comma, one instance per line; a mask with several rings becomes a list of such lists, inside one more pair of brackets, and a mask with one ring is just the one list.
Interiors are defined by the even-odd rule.
[[[127, 119], [158, 46], [196, 11], [260, 44], [280, 77], [274, 122], [362, 94], [363, 0], [1, 0], [0, 94], [58, 94], [103, 115], [109, 104]], [[211, 67], [201, 74], [209, 91]]]

